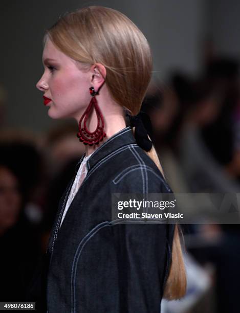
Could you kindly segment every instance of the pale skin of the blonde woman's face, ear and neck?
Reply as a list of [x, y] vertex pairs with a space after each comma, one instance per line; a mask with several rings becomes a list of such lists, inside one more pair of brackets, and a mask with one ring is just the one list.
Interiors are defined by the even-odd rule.
[[[106, 84], [106, 69], [100, 63], [90, 64], [83, 69], [81, 63], [73, 60], [58, 50], [50, 39], [47, 39], [42, 54], [44, 72], [36, 87], [52, 101], [48, 104], [48, 115], [53, 119], [74, 118], [77, 123], [91, 101], [89, 88], [99, 91], [96, 96], [104, 118], [105, 139], [99, 145], [85, 146], [86, 155], [96, 150], [106, 139], [126, 127], [123, 107], [116, 103]], [[97, 125], [97, 116], [92, 114], [88, 124], [90, 131]], [[76, 128], [77, 133], [77, 128]]]

